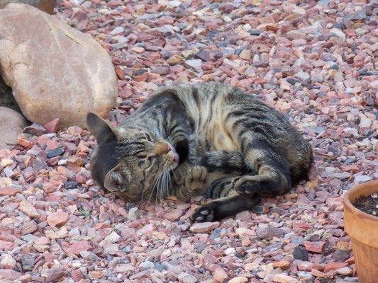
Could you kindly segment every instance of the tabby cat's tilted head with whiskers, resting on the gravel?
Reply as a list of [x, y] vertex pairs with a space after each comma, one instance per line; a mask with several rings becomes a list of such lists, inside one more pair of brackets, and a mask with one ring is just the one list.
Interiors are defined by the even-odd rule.
[[168, 141], [136, 128], [112, 128], [93, 113], [87, 125], [98, 146], [91, 174], [106, 190], [130, 201], [148, 197], [163, 173], [174, 169], [179, 156]]

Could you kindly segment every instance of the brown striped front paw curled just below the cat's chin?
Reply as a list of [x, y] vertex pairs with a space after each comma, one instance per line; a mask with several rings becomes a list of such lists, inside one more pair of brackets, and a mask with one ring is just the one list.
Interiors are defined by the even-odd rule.
[[174, 173], [175, 195], [181, 199], [201, 195], [206, 187], [208, 172], [204, 166], [185, 164]]

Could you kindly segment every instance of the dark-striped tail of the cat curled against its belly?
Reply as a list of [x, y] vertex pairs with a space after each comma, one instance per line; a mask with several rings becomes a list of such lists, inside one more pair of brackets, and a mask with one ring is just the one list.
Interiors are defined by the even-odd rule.
[[209, 151], [199, 160], [199, 165], [207, 168], [209, 172], [238, 172], [247, 173], [245, 159], [238, 151]]

